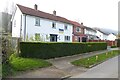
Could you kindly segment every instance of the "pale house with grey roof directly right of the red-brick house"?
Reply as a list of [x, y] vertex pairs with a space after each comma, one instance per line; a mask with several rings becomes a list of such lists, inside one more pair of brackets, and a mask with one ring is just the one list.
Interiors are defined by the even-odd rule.
[[98, 40], [99, 37], [96, 36], [96, 30], [85, 26], [84, 33], [87, 36], [87, 40]]

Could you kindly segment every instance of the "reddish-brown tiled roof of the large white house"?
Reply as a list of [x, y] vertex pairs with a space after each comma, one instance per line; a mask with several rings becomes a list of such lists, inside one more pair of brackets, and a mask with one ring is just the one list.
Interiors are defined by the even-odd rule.
[[41, 17], [41, 18], [45, 18], [45, 19], [50, 19], [50, 20], [55, 20], [55, 21], [60, 21], [60, 22], [65, 22], [65, 23], [71, 24], [71, 22], [66, 18], [63, 18], [60, 16], [55, 16], [53, 14], [49, 14], [49, 13], [35, 10], [32, 8], [28, 8], [28, 7], [19, 5], [19, 4], [17, 4], [17, 6], [20, 8], [20, 10], [23, 14], [37, 16], [37, 17]]

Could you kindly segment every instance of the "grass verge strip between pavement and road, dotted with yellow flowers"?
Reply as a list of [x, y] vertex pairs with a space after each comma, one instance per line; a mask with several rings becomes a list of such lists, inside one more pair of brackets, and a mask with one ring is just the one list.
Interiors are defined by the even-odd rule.
[[82, 58], [71, 62], [73, 65], [82, 66], [86, 68], [93, 67], [109, 58], [115, 57], [120, 54], [120, 50], [114, 50], [103, 54], [98, 54], [88, 58]]

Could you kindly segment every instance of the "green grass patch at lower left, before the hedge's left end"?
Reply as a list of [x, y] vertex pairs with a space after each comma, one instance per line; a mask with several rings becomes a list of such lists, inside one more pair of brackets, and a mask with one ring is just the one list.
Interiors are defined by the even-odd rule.
[[26, 71], [36, 68], [51, 66], [52, 64], [42, 59], [21, 58], [12, 55], [9, 59], [9, 64], [2, 65], [3, 77], [16, 75], [20, 71]]

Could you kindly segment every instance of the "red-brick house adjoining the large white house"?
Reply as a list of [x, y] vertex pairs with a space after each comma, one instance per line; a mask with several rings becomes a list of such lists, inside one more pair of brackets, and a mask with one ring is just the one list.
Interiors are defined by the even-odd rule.
[[73, 42], [86, 42], [83, 23], [75, 21], [71, 21], [71, 23], [73, 24]]

